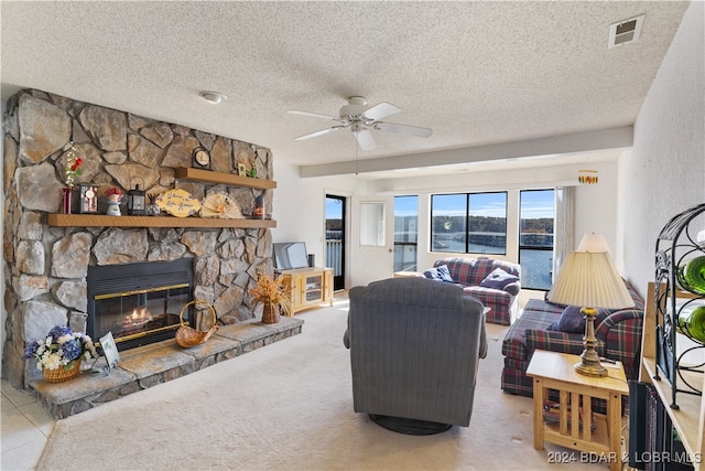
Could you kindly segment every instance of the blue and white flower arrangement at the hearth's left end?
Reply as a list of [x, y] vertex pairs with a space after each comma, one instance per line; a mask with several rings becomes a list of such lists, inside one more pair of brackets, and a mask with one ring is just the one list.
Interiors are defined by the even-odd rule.
[[72, 370], [77, 360], [97, 357], [90, 336], [74, 332], [69, 327], [55, 325], [48, 335], [26, 345], [24, 357], [36, 362], [40, 370]]

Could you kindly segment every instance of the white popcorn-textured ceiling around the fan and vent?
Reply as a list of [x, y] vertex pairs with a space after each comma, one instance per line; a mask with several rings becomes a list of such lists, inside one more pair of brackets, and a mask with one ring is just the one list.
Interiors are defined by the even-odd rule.
[[[2, 1], [2, 99], [37, 88], [268, 147], [310, 174], [349, 172], [356, 160], [380, 171], [420, 160], [457, 170], [466, 160], [485, 161], [478, 149], [494, 149], [486, 152], [492, 163], [484, 163], [491, 169], [518, 164], [524, 148], [562, 161], [562, 152], [575, 151], [566, 141], [595, 150], [601, 135], [590, 143], [584, 133], [633, 125], [686, 8]], [[639, 14], [640, 40], [608, 50], [610, 24]], [[212, 105], [202, 90], [228, 99]], [[293, 140], [334, 122], [288, 110], [337, 116], [352, 95], [370, 106], [391, 103], [402, 111], [386, 121], [433, 135], [372, 131], [378, 147], [367, 152], [357, 151], [349, 129]], [[538, 141], [545, 146], [532, 146]], [[404, 164], [400, 156], [409, 154]]]

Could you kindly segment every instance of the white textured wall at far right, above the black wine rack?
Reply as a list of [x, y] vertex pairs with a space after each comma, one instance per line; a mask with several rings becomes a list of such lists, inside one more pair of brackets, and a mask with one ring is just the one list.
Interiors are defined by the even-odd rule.
[[619, 264], [642, 295], [663, 226], [705, 202], [704, 21], [705, 3], [692, 2], [634, 122], [633, 148], [620, 159]]

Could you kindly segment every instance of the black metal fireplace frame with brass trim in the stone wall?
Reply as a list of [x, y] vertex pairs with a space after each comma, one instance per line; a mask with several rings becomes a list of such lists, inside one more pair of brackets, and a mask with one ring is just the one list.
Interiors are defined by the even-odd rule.
[[[193, 279], [193, 258], [182, 258], [172, 261], [148, 261], [135, 264], [109, 265], [109, 266], [89, 266], [87, 275], [87, 319], [86, 333], [93, 339], [98, 339], [107, 332], [98, 331], [101, 327], [100, 303], [106, 300], [117, 298], [132, 297], [130, 306], [134, 304], [135, 298], [141, 300], [149, 299], [150, 293], [164, 293], [164, 290], [176, 289], [178, 296], [185, 298], [178, 309], [170, 314], [178, 315], [183, 306], [188, 303], [193, 298], [194, 279]], [[152, 300], [154, 303], [155, 301]], [[165, 301], [166, 302], [166, 301]], [[144, 304], [147, 304], [144, 302]], [[104, 306], [105, 307], [105, 306]], [[130, 308], [132, 309], [132, 308]], [[174, 308], [176, 309], [176, 308]], [[127, 314], [126, 312], [122, 313]], [[161, 314], [161, 313], [156, 313]], [[194, 309], [189, 306], [183, 312], [183, 320], [191, 327], [194, 327]], [[173, 339], [180, 327], [172, 323], [170, 327], [147, 330], [144, 332], [135, 332], [124, 336], [116, 338], [116, 345], [119, 351], [147, 345], [162, 340]]]

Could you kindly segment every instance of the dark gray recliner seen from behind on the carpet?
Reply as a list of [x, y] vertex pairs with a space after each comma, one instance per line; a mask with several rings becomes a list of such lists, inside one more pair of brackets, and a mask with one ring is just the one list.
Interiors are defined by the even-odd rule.
[[425, 278], [375, 281], [350, 289], [349, 299], [344, 342], [355, 411], [412, 435], [467, 427], [487, 354], [482, 304]]

